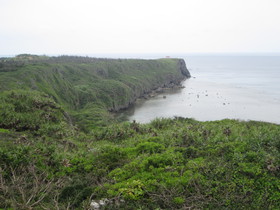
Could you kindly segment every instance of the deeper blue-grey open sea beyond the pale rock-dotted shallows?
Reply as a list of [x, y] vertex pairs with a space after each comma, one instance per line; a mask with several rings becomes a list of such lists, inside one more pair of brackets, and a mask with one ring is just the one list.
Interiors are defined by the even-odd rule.
[[280, 97], [280, 56], [194, 56], [186, 62], [201, 80]]

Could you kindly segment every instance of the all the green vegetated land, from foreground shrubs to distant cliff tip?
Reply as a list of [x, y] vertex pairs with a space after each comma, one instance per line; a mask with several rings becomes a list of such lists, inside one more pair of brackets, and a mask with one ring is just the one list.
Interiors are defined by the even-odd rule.
[[111, 114], [188, 76], [180, 59], [1, 58], [0, 209], [279, 209], [280, 125]]

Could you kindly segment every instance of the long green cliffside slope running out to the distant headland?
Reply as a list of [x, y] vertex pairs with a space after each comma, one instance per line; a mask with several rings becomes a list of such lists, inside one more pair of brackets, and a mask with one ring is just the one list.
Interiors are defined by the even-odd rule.
[[108, 110], [126, 108], [141, 95], [186, 77], [190, 74], [181, 59], [20, 55], [0, 60], [1, 91], [43, 92], [86, 127], [106, 124]]

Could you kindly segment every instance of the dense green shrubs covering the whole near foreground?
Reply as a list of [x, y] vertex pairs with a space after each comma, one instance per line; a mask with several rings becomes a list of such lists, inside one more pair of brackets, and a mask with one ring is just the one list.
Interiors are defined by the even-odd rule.
[[279, 125], [176, 118], [35, 134], [0, 130], [0, 208], [280, 208]]

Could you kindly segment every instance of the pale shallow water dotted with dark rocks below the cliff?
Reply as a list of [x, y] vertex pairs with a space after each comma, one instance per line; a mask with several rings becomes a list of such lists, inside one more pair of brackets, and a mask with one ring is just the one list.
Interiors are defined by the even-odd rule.
[[[175, 116], [198, 121], [236, 119], [280, 124], [280, 101], [245, 88], [189, 79], [184, 89], [159, 93], [122, 111], [128, 121], [149, 123], [155, 118]], [[163, 96], [166, 95], [166, 98]]]

